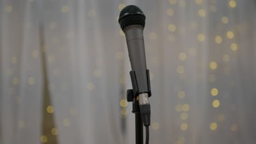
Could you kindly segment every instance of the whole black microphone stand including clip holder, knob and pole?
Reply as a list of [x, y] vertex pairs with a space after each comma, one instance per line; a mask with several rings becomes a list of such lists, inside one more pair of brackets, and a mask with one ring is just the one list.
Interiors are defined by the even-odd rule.
[[[131, 82], [133, 89], [127, 89], [126, 97], [128, 102], [132, 102], [132, 113], [135, 113], [135, 136], [136, 136], [136, 144], [143, 144], [143, 122], [141, 117], [141, 112], [139, 110], [139, 102], [138, 102], [138, 87], [135, 76], [135, 71], [130, 71]], [[147, 79], [148, 79], [148, 92], [149, 97], [151, 96], [151, 88], [150, 88], [150, 79], [149, 79], [149, 70], [147, 69]], [[137, 95], [135, 95], [136, 93]]]

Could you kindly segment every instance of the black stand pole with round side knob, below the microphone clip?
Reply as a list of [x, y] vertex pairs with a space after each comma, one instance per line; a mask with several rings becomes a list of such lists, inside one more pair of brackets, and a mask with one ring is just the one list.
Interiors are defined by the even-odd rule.
[[132, 113], [135, 113], [136, 144], [143, 144], [143, 122], [137, 98], [134, 98], [133, 89], [127, 90], [127, 101], [132, 102]]

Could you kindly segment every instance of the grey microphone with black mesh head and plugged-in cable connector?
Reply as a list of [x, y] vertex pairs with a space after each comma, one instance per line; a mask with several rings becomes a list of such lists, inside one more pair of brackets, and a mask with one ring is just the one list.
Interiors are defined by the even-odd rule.
[[148, 98], [151, 96], [151, 90], [143, 38], [145, 20], [146, 16], [140, 8], [128, 5], [121, 10], [118, 22], [126, 37], [134, 100], [138, 100], [142, 122], [144, 126], [148, 126], [151, 113]]

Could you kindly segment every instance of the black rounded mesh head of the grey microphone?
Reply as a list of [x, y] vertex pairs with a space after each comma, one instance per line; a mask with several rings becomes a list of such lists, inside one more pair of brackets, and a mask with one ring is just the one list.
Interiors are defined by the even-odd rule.
[[141, 25], [145, 27], [146, 17], [143, 11], [136, 5], [128, 5], [123, 8], [119, 15], [119, 24], [121, 29], [131, 25]]

